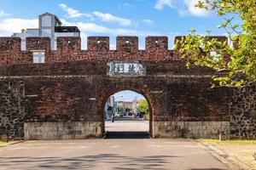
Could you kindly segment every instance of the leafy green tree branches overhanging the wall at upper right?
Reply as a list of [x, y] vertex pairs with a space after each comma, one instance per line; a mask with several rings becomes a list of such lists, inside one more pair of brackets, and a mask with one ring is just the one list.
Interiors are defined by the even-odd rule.
[[[209, 39], [196, 34], [191, 29], [188, 36], [177, 41], [182, 58], [187, 66], [201, 65], [216, 71], [212, 77], [221, 86], [244, 85], [256, 81], [256, 0], [203, 0], [197, 8], [217, 11], [225, 19], [219, 28], [224, 29], [230, 42]], [[234, 17], [241, 19], [241, 24], [234, 22]], [[236, 46], [230, 46], [230, 44]], [[216, 84], [216, 83], [215, 83]]]

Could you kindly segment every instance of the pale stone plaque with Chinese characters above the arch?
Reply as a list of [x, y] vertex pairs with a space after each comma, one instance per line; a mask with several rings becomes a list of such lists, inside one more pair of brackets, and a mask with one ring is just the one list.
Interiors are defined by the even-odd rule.
[[145, 67], [138, 61], [112, 61], [108, 63], [110, 77], [143, 77], [146, 76]]

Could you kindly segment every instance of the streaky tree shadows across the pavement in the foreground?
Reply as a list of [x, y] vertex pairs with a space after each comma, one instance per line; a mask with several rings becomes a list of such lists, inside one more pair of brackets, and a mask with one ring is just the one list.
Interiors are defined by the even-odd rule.
[[[61, 157], [0, 157], [0, 169], [152, 169], [167, 170], [177, 156], [120, 156], [99, 154], [70, 158]], [[102, 164], [106, 167], [102, 167]]]

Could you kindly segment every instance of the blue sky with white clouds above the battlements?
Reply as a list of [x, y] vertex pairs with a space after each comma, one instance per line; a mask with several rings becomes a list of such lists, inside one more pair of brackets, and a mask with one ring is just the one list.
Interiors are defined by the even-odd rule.
[[186, 35], [191, 27], [198, 33], [212, 30], [212, 35], [224, 35], [217, 26], [220, 19], [214, 13], [195, 8], [197, 0], [0, 0], [0, 36], [10, 36], [22, 28], [38, 27], [38, 15], [56, 14], [64, 25], [77, 25], [82, 31], [83, 48], [87, 36], [109, 36], [111, 48], [115, 37], [138, 36], [140, 48], [144, 37]]

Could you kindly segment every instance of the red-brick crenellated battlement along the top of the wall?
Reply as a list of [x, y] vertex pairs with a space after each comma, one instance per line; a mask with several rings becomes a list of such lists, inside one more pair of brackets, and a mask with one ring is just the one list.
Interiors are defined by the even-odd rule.
[[[175, 37], [174, 42], [182, 37]], [[217, 38], [227, 41], [227, 37]], [[56, 50], [49, 37], [27, 37], [21, 51], [19, 37], [0, 37], [0, 65], [32, 64], [32, 53], [44, 51], [45, 63], [108, 60], [179, 60], [176, 50], [168, 49], [168, 37], [146, 37], [145, 50], [138, 48], [138, 37], [116, 37], [116, 49], [110, 49], [109, 37], [88, 37], [87, 49], [81, 50], [80, 37], [57, 37]], [[24, 43], [24, 42], [23, 42]]]

